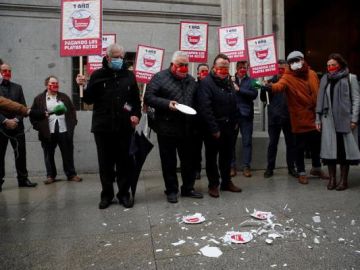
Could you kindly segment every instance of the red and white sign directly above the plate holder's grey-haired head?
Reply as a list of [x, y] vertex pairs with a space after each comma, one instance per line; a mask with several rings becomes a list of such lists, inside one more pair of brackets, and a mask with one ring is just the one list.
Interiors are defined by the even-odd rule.
[[189, 62], [207, 62], [208, 23], [180, 22], [180, 50], [189, 55]]

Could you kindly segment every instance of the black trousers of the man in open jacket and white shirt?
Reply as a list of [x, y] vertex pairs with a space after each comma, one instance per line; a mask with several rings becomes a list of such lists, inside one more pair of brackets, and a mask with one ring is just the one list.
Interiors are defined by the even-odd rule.
[[57, 175], [55, 165], [55, 149], [57, 146], [60, 148], [61, 158], [63, 161], [64, 173], [68, 179], [76, 175], [74, 166], [74, 143], [73, 134], [69, 132], [58, 132], [51, 134], [50, 140], [41, 142], [44, 152], [45, 167], [47, 177], [55, 178]]

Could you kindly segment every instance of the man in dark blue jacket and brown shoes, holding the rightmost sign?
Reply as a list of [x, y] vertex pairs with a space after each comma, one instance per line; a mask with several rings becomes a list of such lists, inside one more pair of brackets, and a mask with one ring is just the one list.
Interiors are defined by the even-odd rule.
[[235, 90], [236, 90], [236, 104], [237, 113], [239, 115], [238, 127], [235, 129], [234, 146], [233, 146], [233, 160], [231, 175], [234, 176], [236, 172], [235, 166], [235, 149], [236, 141], [241, 133], [242, 140], [242, 165], [241, 169], [245, 177], [251, 177], [251, 158], [252, 158], [252, 134], [254, 122], [254, 99], [258, 95], [258, 91], [252, 86], [252, 79], [247, 75], [248, 63], [247, 61], [239, 61], [236, 63], [235, 74]]

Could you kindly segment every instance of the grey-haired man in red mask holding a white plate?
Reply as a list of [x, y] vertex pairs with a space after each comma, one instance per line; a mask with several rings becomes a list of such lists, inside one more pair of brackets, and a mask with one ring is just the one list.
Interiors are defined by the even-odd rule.
[[157, 133], [159, 152], [165, 181], [165, 194], [170, 203], [177, 203], [179, 184], [176, 175], [176, 154], [180, 158], [181, 196], [202, 198], [194, 190], [196, 168], [193, 162], [194, 115], [180, 112], [178, 104], [194, 106], [197, 88], [188, 74], [189, 58], [186, 52], [176, 51], [170, 67], [154, 75], [149, 82], [144, 102], [155, 109], [153, 129]]

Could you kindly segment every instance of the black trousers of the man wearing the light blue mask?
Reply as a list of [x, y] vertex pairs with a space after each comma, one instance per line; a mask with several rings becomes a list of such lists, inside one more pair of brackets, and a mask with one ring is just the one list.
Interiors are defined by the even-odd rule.
[[117, 197], [129, 195], [134, 161], [129, 155], [131, 133], [94, 133], [98, 153], [101, 181], [101, 199], [114, 198], [114, 182], [118, 185]]

